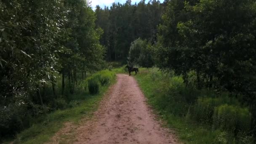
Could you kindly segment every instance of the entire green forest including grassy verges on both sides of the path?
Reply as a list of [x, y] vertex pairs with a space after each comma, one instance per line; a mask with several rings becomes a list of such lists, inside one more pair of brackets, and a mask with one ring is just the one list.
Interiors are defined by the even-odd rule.
[[149, 104], [187, 133], [180, 139], [193, 143], [189, 133], [205, 130], [213, 143], [255, 143], [255, 0], [127, 0], [95, 10], [88, 0], [0, 0], [0, 11], [0, 138], [79, 107], [128, 64], [142, 69], [136, 80]]

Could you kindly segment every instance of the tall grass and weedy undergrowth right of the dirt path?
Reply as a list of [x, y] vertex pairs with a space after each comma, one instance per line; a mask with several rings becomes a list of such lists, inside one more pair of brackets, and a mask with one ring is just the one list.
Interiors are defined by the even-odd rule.
[[140, 68], [136, 79], [148, 103], [185, 143], [253, 143], [248, 107], [231, 93], [186, 87], [181, 76], [158, 68]]

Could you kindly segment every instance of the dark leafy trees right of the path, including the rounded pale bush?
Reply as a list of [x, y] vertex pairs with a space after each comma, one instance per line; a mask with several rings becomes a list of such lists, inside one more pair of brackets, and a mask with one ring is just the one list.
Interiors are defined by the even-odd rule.
[[[129, 63], [170, 69], [188, 87], [229, 91], [251, 112], [256, 134], [255, 0], [170, 0], [158, 25], [157, 43], [135, 40]], [[145, 37], [144, 37], [145, 38]], [[125, 50], [124, 50], [125, 51]], [[145, 57], [146, 53], [146, 57]], [[145, 58], [145, 59], [141, 59]], [[153, 62], [153, 63], [152, 63]], [[196, 83], [189, 79], [196, 77]], [[235, 131], [235, 130], [234, 130]]]

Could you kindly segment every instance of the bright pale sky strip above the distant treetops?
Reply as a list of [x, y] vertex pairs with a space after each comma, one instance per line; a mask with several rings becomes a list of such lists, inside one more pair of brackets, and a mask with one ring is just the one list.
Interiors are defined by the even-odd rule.
[[[91, 6], [92, 6], [92, 8], [93, 8], [93, 10], [95, 10], [95, 7], [96, 7], [96, 5], [99, 5], [101, 8], [104, 8], [105, 7], [105, 5], [106, 6], [111, 6], [112, 5], [112, 3], [125, 3], [126, 2], [126, 0], [89, 0], [89, 1], [91, 1]], [[136, 3], [139, 3], [141, 0], [132, 0], [132, 3], [134, 4], [135, 2]], [[146, 3], [149, 1], [149, 0], [145, 0], [146, 1]], [[160, 0], [160, 2], [161, 3], [163, 3], [163, 1], [164, 0]]]

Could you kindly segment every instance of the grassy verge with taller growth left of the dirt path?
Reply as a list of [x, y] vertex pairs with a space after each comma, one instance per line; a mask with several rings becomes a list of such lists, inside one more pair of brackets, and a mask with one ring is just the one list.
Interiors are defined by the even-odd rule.
[[[107, 83], [99, 87], [98, 93], [90, 94], [88, 81], [98, 80], [98, 77], [107, 77]], [[58, 96], [52, 102], [56, 111], [40, 117], [31, 118], [30, 127], [16, 135], [16, 139], [10, 140], [15, 144], [43, 144], [64, 126], [65, 122], [79, 123], [84, 117], [91, 117], [101, 101], [110, 84], [115, 82], [115, 73], [104, 70], [91, 75], [77, 86], [77, 93], [67, 96]], [[5, 141], [4, 143], [8, 143]]]

